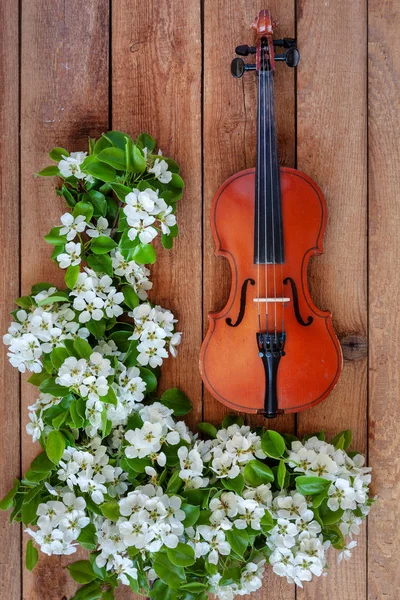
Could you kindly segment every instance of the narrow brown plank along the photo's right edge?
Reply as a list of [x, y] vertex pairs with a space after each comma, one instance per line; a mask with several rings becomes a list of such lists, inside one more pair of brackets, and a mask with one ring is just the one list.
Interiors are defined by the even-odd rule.
[[[400, 434], [397, 299], [400, 283], [400, 5], [369, 2], [369, 461], [378, 503], [368, 523], [368, 598], [400, 589]], [[393, 343], [394, 342], [394, 343]]]

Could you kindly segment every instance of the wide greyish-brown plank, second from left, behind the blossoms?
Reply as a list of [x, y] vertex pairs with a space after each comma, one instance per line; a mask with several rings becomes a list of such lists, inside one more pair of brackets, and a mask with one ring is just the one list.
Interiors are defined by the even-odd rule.
[[[25, 1], [21, 44], [21, 287], [26, 294], [38, 281], [63, 285], [43, 235], [65, 209], [55, 196], [55, 180], [35, 179], [33, 173], [49, 164], [48, 149], [86, 150], [87, 136], [108, 128], [108, 1]], [[30, 388], [24, 377], [23, 425], [27, 406], [36, 398]], [[24, 432], [23, 471], [38, 452]], [[59, 560], [41, 555], [34, 573], [23, 572], [23, 598], [62, 600], [72, 595], [77, 586], [62, 566], [76, 556]]]

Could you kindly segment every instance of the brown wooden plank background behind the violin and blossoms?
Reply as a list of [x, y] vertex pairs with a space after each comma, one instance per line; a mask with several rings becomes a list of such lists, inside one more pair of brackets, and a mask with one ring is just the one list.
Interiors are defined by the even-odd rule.
[[[179, 358], [163, 386], [192, 398], [190, 425], [219, 422], [225, 410], [204, 394], [198, 353], [207, 313], [220, 309], [229, 270], [214, 258], [213, 193], [254, 165], [255, 78], [233, 80], [229, 64], [262, 8], [297, 35], [295, 74], [278, 65], [276, 101], [281, 163], [305, 171], [326, 195], [325, 254], [310, 286], [332, 311], [345, 357], [334, 393], [276, 428], [327, 433], [351, 427], [369, 453], [379, 502], [351, 561], [295, 591], [266, 577], [257, 600], [395, 600], [400, 589], [398, 447], [400, 405], [400, 4], [397, 0], [3, 0], [0, 4], [1, 330], [12, 299], [35, 281], [60, 283], [42, 240], [62, 206], [53, 182], [35, 179], [54, 145], [83, 149], [108, 128], [147, 129], [182, 166], [181, 237], [153, 269], [153, 297], [179, 316]], [[25, 434], [32, 391], [2, 354], [0, 494], [38, 451]], [[249, 421], [250, 422], [250, 421]], [[259, 423], [259, 419], [252, 419]], [[274, 423], [274, 426], [275, 426]], [[0, 515], [1, 600], [66, 600], [75, 586], [66, 559], [42, 556], [24, 569], [23, 537]], [[26, 541], [26, 540], [25, 540]], [[120, 600], [133, 598], [127, 590]]]

